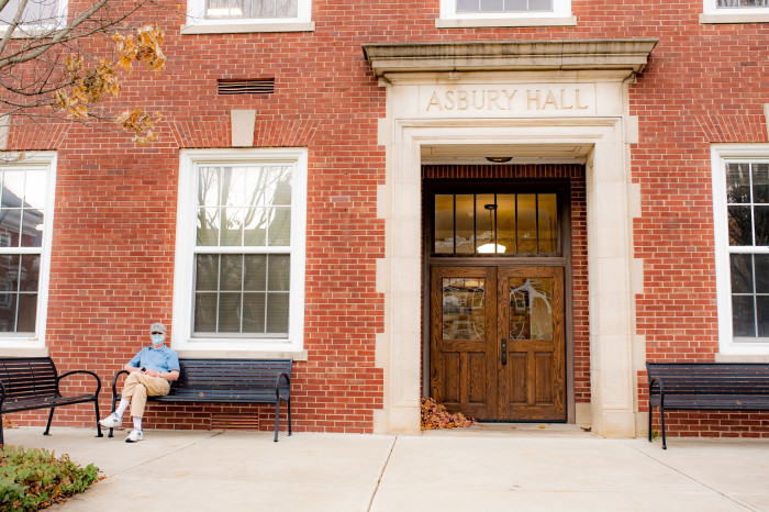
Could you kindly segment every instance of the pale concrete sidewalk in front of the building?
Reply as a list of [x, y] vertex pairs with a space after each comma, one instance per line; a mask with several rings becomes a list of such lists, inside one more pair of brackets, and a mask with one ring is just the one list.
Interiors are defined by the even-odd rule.
[[419, 436], [5, 431], [107, 479], [52, 510], [769, 511], [769, 441], [603, 439], [573, 425]]

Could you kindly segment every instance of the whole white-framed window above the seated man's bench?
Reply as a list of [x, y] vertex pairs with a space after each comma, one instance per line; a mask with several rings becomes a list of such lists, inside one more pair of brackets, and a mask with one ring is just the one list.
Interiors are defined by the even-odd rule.
[[303, 346], [304, 148], [181, 153], [174, 347]]

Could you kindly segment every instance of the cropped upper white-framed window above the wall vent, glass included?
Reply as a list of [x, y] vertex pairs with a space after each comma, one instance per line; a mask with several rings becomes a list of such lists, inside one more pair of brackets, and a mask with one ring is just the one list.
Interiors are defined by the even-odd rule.
[[188, 0], [182, 34], [313, 31], [312, 0]]

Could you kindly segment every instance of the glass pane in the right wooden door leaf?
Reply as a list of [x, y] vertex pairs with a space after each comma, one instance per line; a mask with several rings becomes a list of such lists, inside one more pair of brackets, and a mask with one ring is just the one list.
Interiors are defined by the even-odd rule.
[[553, 340], [553, 279], [510, 278], [510, 340]]

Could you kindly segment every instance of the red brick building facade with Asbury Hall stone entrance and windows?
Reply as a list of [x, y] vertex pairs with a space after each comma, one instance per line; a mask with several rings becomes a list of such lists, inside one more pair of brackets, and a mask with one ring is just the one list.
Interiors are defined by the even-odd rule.
[[[618, 437], [646, 428], [646, 360], [769, 358], [761, 0], [189, 1], [120, 97], [158, 142], [5, 133], [0, 355], [110, 382], [161, 321], [182, 357], [292, 357], [298, 431], [416, 432], [433, 394]], [[147, 426], [233, 414], [271, 412]]]

